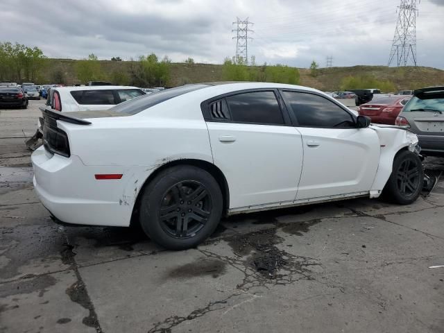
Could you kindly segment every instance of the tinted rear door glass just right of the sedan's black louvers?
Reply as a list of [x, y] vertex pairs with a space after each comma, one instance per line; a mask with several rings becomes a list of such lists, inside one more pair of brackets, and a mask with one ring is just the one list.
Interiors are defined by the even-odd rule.
[[226, 98], [232, 121], [241, 123], [284, 123], [274, 92], [247, 92]]

